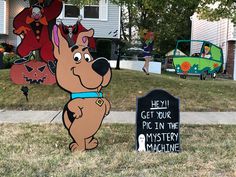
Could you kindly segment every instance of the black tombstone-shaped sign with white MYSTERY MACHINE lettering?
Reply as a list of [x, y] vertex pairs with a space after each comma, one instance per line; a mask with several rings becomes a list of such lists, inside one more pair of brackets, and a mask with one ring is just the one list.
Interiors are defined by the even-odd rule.
[[179, 152], [179, 99], [164, 90], [137, 98], [136, 149]]

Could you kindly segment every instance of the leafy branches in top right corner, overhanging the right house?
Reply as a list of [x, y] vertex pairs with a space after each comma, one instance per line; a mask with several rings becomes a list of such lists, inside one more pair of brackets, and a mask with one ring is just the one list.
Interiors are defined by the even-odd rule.
[[202, 19], [228, 18], [236, 23], [236, 0], [201, 0], [197, 12]]

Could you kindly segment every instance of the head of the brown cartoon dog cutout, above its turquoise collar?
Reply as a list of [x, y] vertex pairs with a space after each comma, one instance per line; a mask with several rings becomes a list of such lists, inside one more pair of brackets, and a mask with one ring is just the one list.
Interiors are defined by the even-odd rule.
[[65, 90], [76, 92], [100, 91], [111, 79], [111, 69], [105, 58], [94, 60], [88, 50], [88, 38], [94, 30], [78, 35], [76, 44], [69, 48], [60, 30], [54, 26], [54, 55], [57, 59], [58, 84]]

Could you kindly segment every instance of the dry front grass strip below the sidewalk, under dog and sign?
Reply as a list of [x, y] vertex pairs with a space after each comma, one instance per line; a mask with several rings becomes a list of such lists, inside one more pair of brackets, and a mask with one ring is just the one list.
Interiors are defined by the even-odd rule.
[[60, 124], [1, 124], [0, 176], [236, 176], [236, 126], [180, 129], [182, 152], [137, 153], [133, 125], [103, 125], [96, 150], [76, 152]]

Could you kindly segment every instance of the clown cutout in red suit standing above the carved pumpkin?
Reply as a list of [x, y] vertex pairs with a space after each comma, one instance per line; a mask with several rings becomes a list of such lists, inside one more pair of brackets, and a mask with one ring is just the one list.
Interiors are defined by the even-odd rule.
[[48, 24], [60, 15], [62, 2], [61, 0], [52, 0], [47, 7], [42, 6], [43, 2], [44, 0], [38, 0], [37, 4], [25, 8], [14, 18], [14, 33], [23, 36], [20, 45], [17, 47], [17, 53], [21, 59], [15, 63], [27, 62], [30, 53], [39, 50], [41, 59], [48, 64], [51, 73], [55, 74], [55, 58]]

